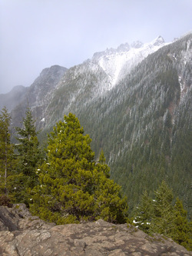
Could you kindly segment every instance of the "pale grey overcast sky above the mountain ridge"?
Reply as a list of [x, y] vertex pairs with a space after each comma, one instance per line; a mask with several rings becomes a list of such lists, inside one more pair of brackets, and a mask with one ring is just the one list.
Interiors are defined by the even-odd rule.
[[191, 0], [0, 0], [0, 93], [124, 42], [171, 42], [191, 13]]

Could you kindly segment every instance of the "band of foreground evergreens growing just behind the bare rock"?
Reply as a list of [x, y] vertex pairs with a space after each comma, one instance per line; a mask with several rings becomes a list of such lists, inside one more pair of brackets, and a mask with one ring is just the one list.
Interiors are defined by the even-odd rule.
[[[191, 249], [190, 221], [182, 201], [175, 198], [165, 181], [147, 191], [134, 210], [129, 198], [110, 178], [104, 151], [96, 161], [91, 138], [84, 135], [78, 118], [69, 113], [48, 134], [46, 147], [38, 141], [35, 121], [28, 108], [22, 128], [10, 137], [11, 117], [7, 108], [0, 115], [0, 204], [25, 203], [32, 214], [56, 224], [95, 221], [134, 224], [148, 234], [159, 233]], [[154, 199], [153, 199], [154, 198]]]

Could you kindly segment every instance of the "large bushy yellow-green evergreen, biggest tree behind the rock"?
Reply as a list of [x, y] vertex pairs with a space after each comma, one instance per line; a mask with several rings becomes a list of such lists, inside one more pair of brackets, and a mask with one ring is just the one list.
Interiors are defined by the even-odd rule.
[[33, 214], [57, 224], [79, 221], [126, 221], [127, 200], [108, 178], [104, 155], [96, 164], [91, 138], [75, 115], [65, 115], [48, 136], [47, 160], [39, 168], [39, 185], [32, 189]]

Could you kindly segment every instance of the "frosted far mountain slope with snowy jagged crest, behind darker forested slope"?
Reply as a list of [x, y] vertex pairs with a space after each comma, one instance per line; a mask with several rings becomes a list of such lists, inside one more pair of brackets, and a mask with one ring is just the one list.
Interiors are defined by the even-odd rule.
[[78, 111], [89, 104], [94, 104], [98, 98], [104, 97], [112, 88], [118, 85], [132, 68], [147, 55], [163, 47], [164, 39], [159, 36], [153, 42], [142, 44], [127, 43], [117, 49], [111, 48], [95, 53], [78, 66], [70, 68], [65, 77], [58, 83], [51, 103], [45, 111], [45, 127], [54, 125], [68, 111]]

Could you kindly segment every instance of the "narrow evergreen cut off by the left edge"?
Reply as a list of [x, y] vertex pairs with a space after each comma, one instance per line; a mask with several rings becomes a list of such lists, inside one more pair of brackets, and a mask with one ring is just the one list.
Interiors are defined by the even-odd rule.
[[7, 108], [2, 108], [0, 114], [0, 194], [8, 195], [10, 184], [8, 179], [12, 174], [13, 147], [10, 142], [11, 116]]

